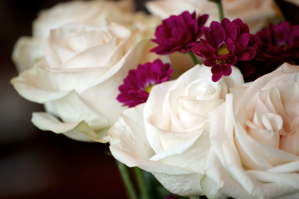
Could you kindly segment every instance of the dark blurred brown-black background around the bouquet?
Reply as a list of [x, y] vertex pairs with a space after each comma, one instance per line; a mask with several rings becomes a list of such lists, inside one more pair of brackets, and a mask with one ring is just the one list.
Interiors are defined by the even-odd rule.
[[[62, 0], [0, 1], [0, 198], [126, 198], [109, 144], [84, 143], [41, 131], [30, 122], [41, 104], [25, 100], [10, 85], [18, 75], [11, 61], [16, 40], [31, 36], [39, 10]], [[277, 1], [298, 23], [298, 7]], [[144, 0], [136, 0], [145, 10]]]

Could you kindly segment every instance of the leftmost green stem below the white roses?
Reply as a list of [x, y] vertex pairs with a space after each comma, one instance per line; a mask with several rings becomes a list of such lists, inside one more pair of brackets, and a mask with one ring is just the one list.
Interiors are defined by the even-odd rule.
[[127, 194], [128, 198], [129, 199], [138, 199], [138, 196], [136, 194], [136, 191], [135, 191], [132, 181], [130, 179], [128, 167], [125, 164], [123, 164], [117, 160], [116, 160], [116, 164], [118, 166], [120, 176], [123, 180], [123, 185], [125, 186], [125, 190], [126, 190], [126, 194]]

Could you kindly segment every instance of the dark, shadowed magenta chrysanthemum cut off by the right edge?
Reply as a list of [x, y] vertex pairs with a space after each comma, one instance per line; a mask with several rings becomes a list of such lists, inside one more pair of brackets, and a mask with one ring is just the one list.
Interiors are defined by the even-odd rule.
[[266, 63], [269, 69], [276, 69], [284, 62], [299, 58], [299, 25], [282, 21], [278, 26], [269, 24], [268, 28], [257, 33], [260, 43], [257, 46], [257, 61]]

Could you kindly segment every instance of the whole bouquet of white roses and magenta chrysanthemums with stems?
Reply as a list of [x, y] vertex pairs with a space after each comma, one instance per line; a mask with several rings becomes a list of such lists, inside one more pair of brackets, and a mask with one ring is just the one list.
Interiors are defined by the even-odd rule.
[[109, 142], [128, 198], [139, 198], [128, 167], [143, 199], [298, 198], [299, 25], [272, 0], [131, 5], [39, 14], [11, 80], [44, 104], [32, 123]]

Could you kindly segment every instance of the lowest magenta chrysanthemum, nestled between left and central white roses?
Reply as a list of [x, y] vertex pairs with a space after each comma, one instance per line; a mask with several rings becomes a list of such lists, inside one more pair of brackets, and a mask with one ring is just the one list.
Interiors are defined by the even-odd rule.
[[172, 71], [170, 64], [163, 64], [160, 59], [153, 63], [139, 64], [137, 70], [129, 71], [123, 84], [118, 87], [120, 94], [117, 100], [129, 107], [146, 102], [152, 86], [168, 81]]

